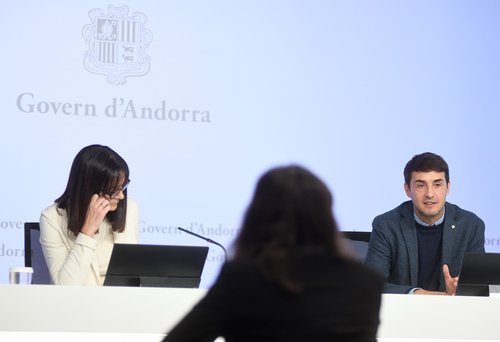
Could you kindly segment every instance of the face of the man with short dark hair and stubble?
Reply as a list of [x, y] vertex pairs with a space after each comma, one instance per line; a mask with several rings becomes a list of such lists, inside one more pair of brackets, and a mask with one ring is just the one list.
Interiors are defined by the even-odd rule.
[[430, 225], [441, 218], [442, 208], [449, 192], [449, 181], [446, 184], [444, 172], [413, 171], [409, 188], [404, 183], [404, 191], [413, 201], [418, 218]]

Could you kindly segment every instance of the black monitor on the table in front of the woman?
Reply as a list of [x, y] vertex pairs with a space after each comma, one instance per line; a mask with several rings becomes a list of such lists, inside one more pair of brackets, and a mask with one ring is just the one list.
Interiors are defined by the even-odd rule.
[[106, 286], [198, 288], [208, 247], [115, 243]]

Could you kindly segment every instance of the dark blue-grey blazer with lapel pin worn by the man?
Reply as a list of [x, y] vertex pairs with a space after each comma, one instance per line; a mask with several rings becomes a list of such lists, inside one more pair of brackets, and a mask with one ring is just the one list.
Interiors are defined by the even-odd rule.
[[[439, 291], [445, 290], [443, 264], [448, 265], [450, 275], [455, 277], [460, 271], [463, 252], [484, 252], [484, 222], [457, 205], [446, 202], [444, 208]], [[384, 292], [404, 293], [418, 287], [418, 244], [412, 201], [376, 216], [371, 225], [364, 263], [382, 273]]]

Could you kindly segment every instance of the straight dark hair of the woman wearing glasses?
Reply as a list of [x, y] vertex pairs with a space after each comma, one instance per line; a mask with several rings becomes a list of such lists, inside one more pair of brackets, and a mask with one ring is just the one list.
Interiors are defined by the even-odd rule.
[[[120, 187], [120, 181], [126, 181], [128, 175], [125, 160], [111, 148], [102, 145], [83, 147], [74, 157], [64, 193], [54, 201], [57, 208], [66, 210], [67, 228], [78, 235], [92, 195]], [[126, 189], [123, 197], [116, 210], [106, 214], [111, 229], [117, 232], [125, 230]]]

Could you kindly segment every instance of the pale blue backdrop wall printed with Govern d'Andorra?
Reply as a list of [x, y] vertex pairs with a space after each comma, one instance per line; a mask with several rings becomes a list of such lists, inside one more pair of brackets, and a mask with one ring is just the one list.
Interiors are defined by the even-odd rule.
[[[143, 13], [152, 35], [142, 56], [149, 71], [118, 85], [83, 64], [88, 13], [104, 17], [110, 4]], [[486, 251], [500, 252], [500, 2], [8, 1], [2, 9], [0, 282], [23, 265], [23, 222], [38, 221], [64, 190], [76, 152], [92, 143], [130, 167], [141, 243], [208, 245], [176, 233], [181, 226], [229, 247], [258, 176], [289, 163], [327, 183], [342, 230], [371, 230], [374, 216], [407, 200], [405, 163], [432, 151], [450, 167], [447, 200], [481, 217]], [[137, 50], [116, 46], [133, 69]], [[112, 107], [106, 115], [113, 98], [114, 117]], [[200, 287], [221, 260], [210, 245]]]

